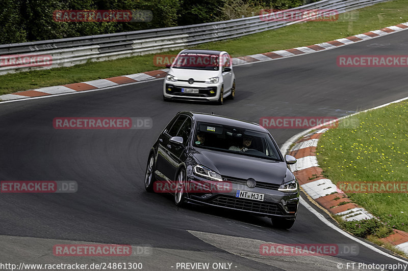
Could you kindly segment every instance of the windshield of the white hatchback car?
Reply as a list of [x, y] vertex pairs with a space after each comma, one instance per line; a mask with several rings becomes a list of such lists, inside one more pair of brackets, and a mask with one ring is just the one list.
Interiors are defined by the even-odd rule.
[[174, 60], [173, 68], [218, 71], [219, 55], [182, 53]]

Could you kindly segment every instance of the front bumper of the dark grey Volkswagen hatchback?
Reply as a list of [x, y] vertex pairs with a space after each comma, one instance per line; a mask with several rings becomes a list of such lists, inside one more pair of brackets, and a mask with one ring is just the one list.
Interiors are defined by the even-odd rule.
[[[207, 180], [197, 176], [189, 178], [188, 181], [197, 185], [207, 182]], [[269, 186], [267, 183], [262, 182], [259, 182], [260, 187], [249, 188], [243, 185], [239, 179], [231, 179], [225, 181], [225, 183], [228, 183], [226, 185], [228, 189], [221, 188], [220, 192], [212, 190], [203, 193], [189, 193], [187, 201], [194, 204], [239, 210], [257, 216], [296, 218], [299, 192], [281, 192], [277, 190], [278, 185]], [[220, 184], [220, 182], [217, 182], [217, 184]], [[275, 187], [275, 189], [271, 189], [271, 187]], [[264, 194], [264, 201], [238, 198], [236, 197], [237, 190]]]

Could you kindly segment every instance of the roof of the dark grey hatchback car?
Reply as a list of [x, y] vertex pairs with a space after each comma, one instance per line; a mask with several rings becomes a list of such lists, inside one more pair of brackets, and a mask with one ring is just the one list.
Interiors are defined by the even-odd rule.
[[236, 119], [232, 117], [208, 114], [208, 113], [200, 113], [200, 112], [191, 112], [191, 111], [182, 111], [181, 114], [188, 114], [192, 116], [197, 122], [207, 122], [207, 123], [214, 123], [214, 124], [221, 124], [221, 125], [230, 125], [244, 129], [251, 129], [259, 132], [266, 132], [267, 130], [262, 126], [251, 123], [247, 121], [242, 121], [241, 119]]

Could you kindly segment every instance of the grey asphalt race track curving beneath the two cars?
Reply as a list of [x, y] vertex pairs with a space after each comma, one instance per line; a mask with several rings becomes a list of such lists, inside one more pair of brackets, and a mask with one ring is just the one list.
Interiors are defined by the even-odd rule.
[[[329, 228], [304, 206], [292, 229], [281, 230], [267, 218], [195, 206], [177, 208], [172, 197], [145, 192], [143, 181], [150, 146], [179, 111], [214, 112], [258, 123], [262, 116], [340, 117], [408, 96], [404, 68], [336, 64], [338, 55], [403, 55], [407, 44], [408, 31], [402, 31], [333, 50], [236, 67], [236, 99], [222, 106], [164, 102], [162, 80], [0, 104], [0, 180], [78, 182], [77, 193], [0, 194], [2, 262], [106, 262], [104, 257], [52, 253], [56, 244], [95, 242], [152, 247], [151, 255], [109, 259], [142, 262], [144, 270], [176, 270], [177, 262], [228, 262], [233, 270], [338, 270], [337, 263], [398, 263]], [[101, 116], [151, 117], [153, 127], [53, 128], [54, 117]], [[300, 132], [270, 131], [279, 145]], [[262, 242], [354, 244], [359, 254], [268, 258], [257, 253]]]

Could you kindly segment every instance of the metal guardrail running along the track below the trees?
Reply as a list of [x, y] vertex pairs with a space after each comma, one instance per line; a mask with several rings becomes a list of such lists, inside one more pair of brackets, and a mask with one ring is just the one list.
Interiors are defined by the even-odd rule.
[[[389, 0], [322, 0], [293, 8], [289, 11], [336, 10], [339, 14], [371, 6]], [[321, 14], [325, 14], [325, 12]], [[83, 64], [87, 61], [104, 61], [119, 57], [157, 53], [186, 48], [201, 43], [238, 38], [268, 31], [311, 19], [309, 13], [295, 21], [261, 20], [260, 16], [235, 20], [202, 23], [186, 26], [147, 29], [106, 35], [85, 36], [58, 40], [14, 43], [0, 45], [0, 55], [49, 55], [52, 62], [47, 66], [1, 65], [0, 75], [32, 69], [49, 69]], [[38, 61], [34, 60], [34, 61]]]

